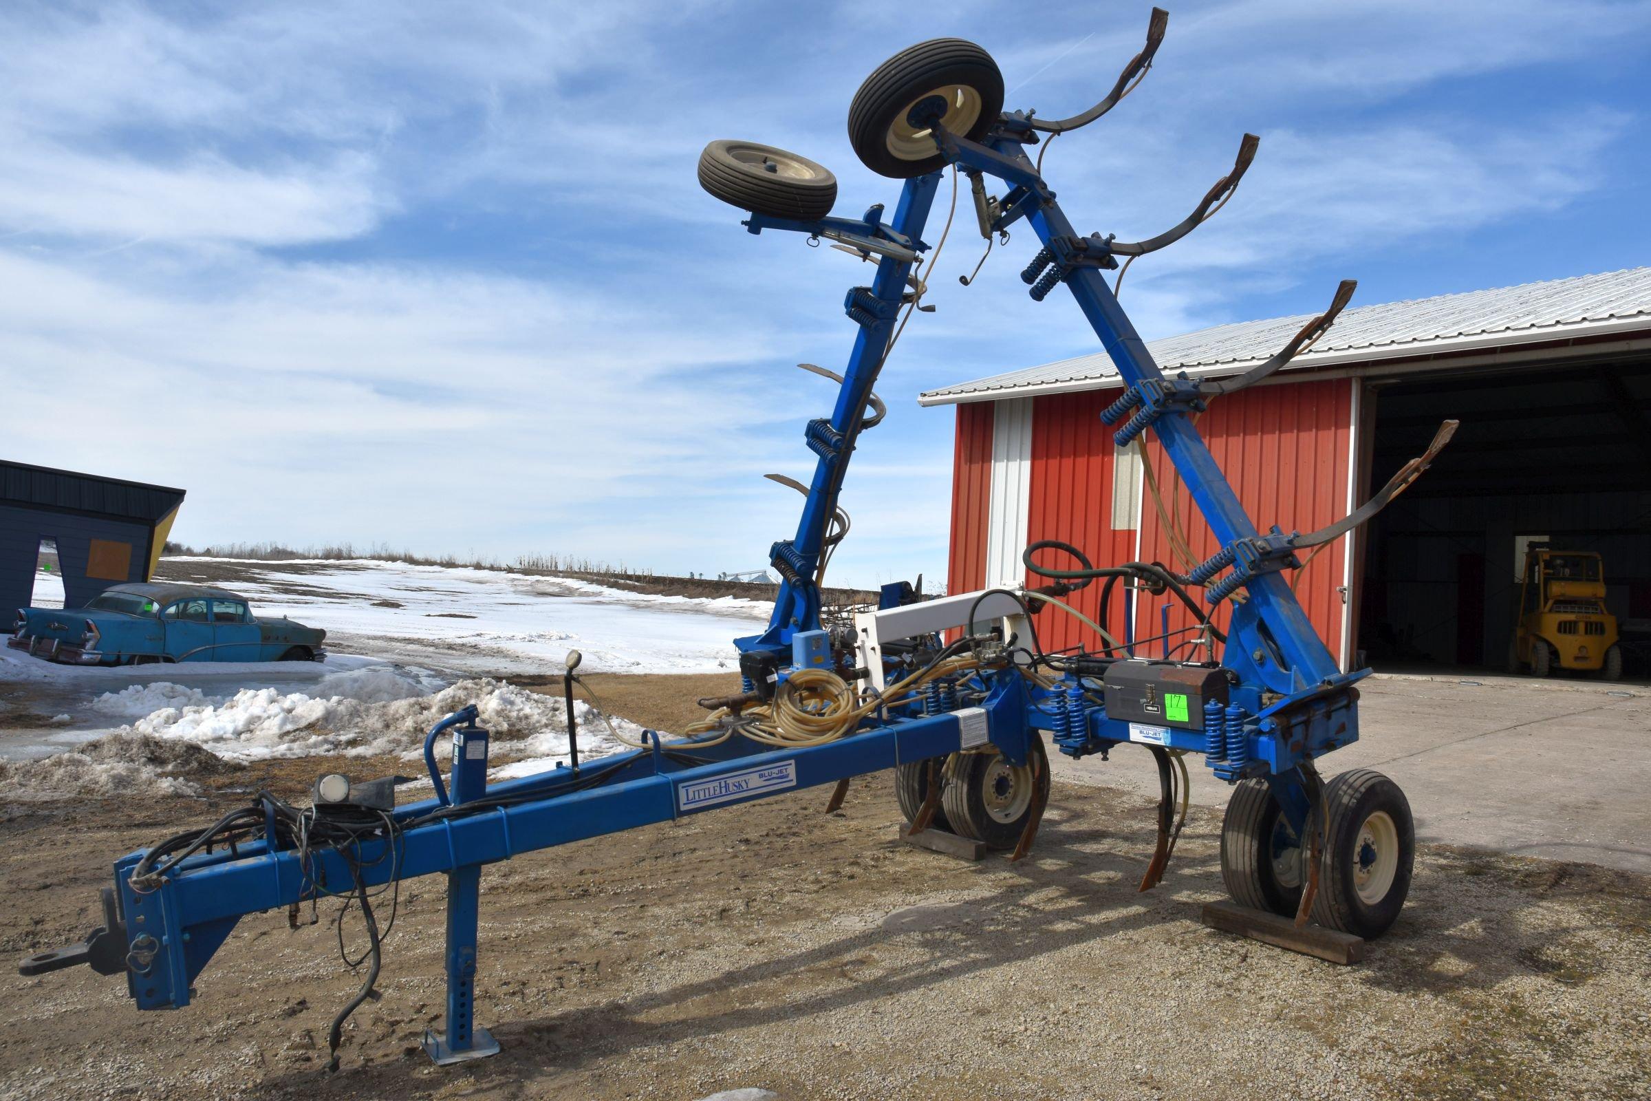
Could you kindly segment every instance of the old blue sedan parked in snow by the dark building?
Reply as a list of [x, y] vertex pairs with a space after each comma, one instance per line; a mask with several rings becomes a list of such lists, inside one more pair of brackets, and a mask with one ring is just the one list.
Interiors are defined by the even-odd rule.
[[7, 645], [71, 665], [320, 662], [327, 632], [203, 584], [116, 584], [84, 607], [20, 607]]

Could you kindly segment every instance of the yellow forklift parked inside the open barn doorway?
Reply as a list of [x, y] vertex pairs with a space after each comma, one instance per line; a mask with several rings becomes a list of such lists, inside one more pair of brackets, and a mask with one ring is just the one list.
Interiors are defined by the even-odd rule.
[[1507, 672], [1547, 677], [1555, 669], [1623, 675], [1616, 617], [1605, 611], [1605, 571], [1592, 551], [1526, 548], [1519, 621], [1507, 644]]

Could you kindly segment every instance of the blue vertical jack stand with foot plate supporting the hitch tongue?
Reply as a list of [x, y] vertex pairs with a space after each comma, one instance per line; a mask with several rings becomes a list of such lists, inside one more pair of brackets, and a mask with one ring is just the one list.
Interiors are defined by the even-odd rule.
[[[452, 731], [452, 802], [487, 794], [487, 731], [474, 716]], [[482, 906], [482, 865], [447, 872], [447, 1017], [442, 1035], [426, 1030], [424, 1051], [438, 1066], [499, 1055], [499, 1042], [475, 1023], [475, 941]]]

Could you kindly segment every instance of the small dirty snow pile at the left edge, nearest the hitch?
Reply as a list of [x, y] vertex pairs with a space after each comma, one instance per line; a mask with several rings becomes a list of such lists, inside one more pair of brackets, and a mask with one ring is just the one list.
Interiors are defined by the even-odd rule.
[[229, 768], [187, 741], [117, 733], [40, 761], [0, 761], [0, 796], [18, 802], [198, 796], [200, 786], [187, 777], [218, 776]]

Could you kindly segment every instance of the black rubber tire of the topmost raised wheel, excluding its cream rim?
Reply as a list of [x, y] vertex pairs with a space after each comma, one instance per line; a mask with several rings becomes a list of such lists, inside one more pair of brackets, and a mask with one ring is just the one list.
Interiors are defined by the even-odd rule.
[[967, 87], [979, 99], [972, 120], [959, 119], [954, 132], [979, 139], [1004, 109], [1004, 74], [992, 54], [963, 38], [931, 38], [901, 50], [865, 78], [849, 106], [849, 142], [872, 172], [910, 180], [944, 167], [938, 150], [908, 160], [888, 147], [890, 127], [903, 122], [911, 106], [939, 87]]

